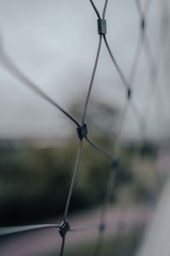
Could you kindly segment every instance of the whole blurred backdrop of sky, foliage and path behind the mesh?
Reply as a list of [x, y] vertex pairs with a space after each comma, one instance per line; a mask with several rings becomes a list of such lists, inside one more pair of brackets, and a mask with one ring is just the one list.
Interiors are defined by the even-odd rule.
[[[101, 12], [104, 1], [95, 3]], [[142, 36], [143, 14], [137, 3], [144, 9], [147, 40]], [[109, 228], [102, 255], [143, 255], [144, 237], [153, 237], [162, 220], [158, 218], [152, 227], [162, 197], [168, 209], [169, 17], [169, 0], [108, 3], [108, 42], [127, 81], [133, 80], [132, 101], [144, 122], [133, 108], [127, 108], [116, 150], [122, 165], [107, 212]], [[98, 40], [89, 1], [0, 0], [2, 227], [62, 220], [78, 148], [75, 125], [13, 75], [4, 53], [81, 120]], [[122, 79], [103, 43], [87, 123], [90, 137], [109, 151], [113, 151], [126, 101]], [[69, 209], [72, 226], [99, 220], [110, 169], [105, 156], [84, 142]], [[146, 235], [150, 226], [155, 231]], [[164, 237], [164, 229], [161, 232]], [[94, 255], [97, 234], [98, 230], [69, 233], [65, 255]], [[2, 238], [0, 255], [53, 256], [59, 246], [56, 230], [41, 230]], [[158, 255], [148, 250], [144, 255]]]

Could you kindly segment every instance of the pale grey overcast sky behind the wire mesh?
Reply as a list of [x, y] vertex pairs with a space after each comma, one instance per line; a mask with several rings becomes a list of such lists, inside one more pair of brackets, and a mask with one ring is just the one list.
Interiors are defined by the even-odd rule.
[[[160, 2], [152, 1], [147, 19], [151, 49], [158, 62], [162, 53]], [[95, 3], [101, 10], [104, 1]], [[106, 20], [109, 44], [128, 79], [139, 38], [135, 1], [109, 1]], [[96, 16], [88, 0], [0, 0], [0, 30], [3, 49], [15, 64], [63, 108], [69, 109], [77, 96], [86, 94], [99, 40]], [[62, 113], [27, 89], [2, 64], [0, 55], [0, 137], [58, 137], [73, 130], [74, 125], [69, 125]], [[161, 77], [162, 74], [163, 71]], [[160, 80], [166, 89], [166, 79]], [[133, 97], [144, 115], [151, 96], [150, 86], [149, 66], [143, 52]], [[122, 109], [125, 95], [103, 44], [92, 96]], [[168, 135], [168, 110], [164, 111], [164, 104], [159, 108], [160, 114], [153, 109], [148, 134]], [[139, 125], [132, 112], [127, 114], [123, 134], [139, 136]]]

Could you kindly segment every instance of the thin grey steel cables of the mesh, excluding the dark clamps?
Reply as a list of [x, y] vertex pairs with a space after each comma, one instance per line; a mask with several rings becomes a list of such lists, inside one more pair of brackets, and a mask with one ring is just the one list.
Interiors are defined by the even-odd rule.
[[[108, 0], [105, 0], [104, 8], [103, 8], [101, 17], [100, 17], [98, 9], [96, 8], [96, 6], [94, 4], [94, 1], [89, 0], [89, 2], [91, 3], [92, 8], [94, 9], [94, 12], [97, 15], [98, 19], [101, 19], [101, 17], [102, 17], [102, 19], [105, 19]], [[106, 49], [108, 50], [109, 55], [111, 56], [111, 61], [114, 63], [114, 66], [116, 67], [116, 71], [119, 74], [120, 78], [122, 79], [122, 83], [126, 87], [127, 102], [125, 102], [125, 105], [124, 105], [123, 110], [122, 110], [122, 116], [121, 116], [121, 119], [120, 119], [120, 124], [118, 126], [119, 128], [118, 128], [118, 131], [117, 131], [117, 134], [116, 134], [114, 148], [112, 150], [113, 154], [111, 152], [109, 152], [107, 149], [98, 145], [97, 143], [94, 143], [94, 141], [92, 139], [90, 139], [88, 137], [88, 135], [84, 136], [84, 138], [85, 138], [86, 142], [91, 147], [93, 147], [95, 150], [99, 151], [99, 153], [103, 154], [108, 160], [110, 160], [111, 163], [112, 163], [112, 161], [114, 161], [116, 159], [114, 155], [116, 154], [116, 147], [117, 147], [118, 143], [120, 143], [120, 140], [121, 140], [122, 125], [123, 125], [123, 121], [125, 119], [125, 116], [127, 114], [128, 107], [132, 108], [133, 113], [138, 118], [139, 131], [141, 132], [142, 139], [145, 140], [146, 125], [148, 124], [148, 120], [144, 119], [145, 114], [143, 116], [143, 114], [139, 112], [139, 108], [137, 108], [135, 103], [132, 102], [132, 100], [131, 100], [132, 99], [131, 90], [133, 89], [133, 84], [134, 84], [133, 81], [134, 81], [134, 78], [135, 78], [135, 75], [137, 73], [137, 69], [138, 69], [138, 66], [139, 66], [139, 58], [140, 58], [140, 55], [141, 55], [142, 48], [144, 48], [145, 56], [146, 56], [146, 59], [149, 63], [149, 67], [156, 68], [156, 71], [158, 73], [157, 76], [156, 76], [156, 81], [157, 81], [156, 84], [158, 83], [158, 77], [159, 77], [161, 67], [158, 67], [156, 65], [156, 60], [155, 60], [154, 56], [152, 55], [149, 38], [148, 38], [148, 35], [145, 32], [145, 26], [144, 26], [146, 15], [148, 14], [148, 11], [149, 11], [149, 8], [150, 8], [150, 2], [151, 2], [151, 0], [145, 1], [144, 9], [143, 9], [139, 0], [135, 0], [135, 3], [137, 5], [137, 9], [138, 9], [138, 12], [139, 12], [139, 18], [140, 18], [141, 26], [140, 26], [140, 33], [139, 33], [139, 41], [138, 41], [138, 44], [137, 44], [137, 47], [136, 47], [136, 50], [135, 50], [135, 55], [134, 55], [134, 58], [133, 58], [133, 64], [132, 64], [130, 74], [129, 74], [129, 79], [126, 79], [126, 76], [124, 75], [124, 73], [122, 73], [122, 69], [119, 67], [118, 62], [115, 59], [115, 56], [111, 52], [111, 48], [110, 48], [110, 46], [107, 42], [107, 38], [106, 38], [105, 34], [99, 34], [99, 44], [98, 44], [98, 49], [97, 49], [97, 53], [96, 53], [96, 57], [95, 57], [95, 61], [94, 61], [94, 68], [93, 68], [93, 71], [92, 71], [90, 83], [89, 83], [89, 86], [88, 86], [88, 93], [87, 93], [87, 96], [85, 98], [84, 108], [83, 108], [83, 111], [82, 111], [82, 124], [84, 124], [86, 116], [87, 116], [88, 102], [89, 102], [89, 99], [90, 99], [90, 96], [91, 96], [91, 91], [92, 91], [92, 88], [93, 88], [93, 85], [94, 85], [94, 78], [95, 78], [96, 70], [98, 68], [99, 55], [100, 55], [100, 50], [101, 50], [101, 45], [102, 45], [102, 38], [104, 38]], [[77, 119], [75, 119], [70, 113], [67, 113], [63, 108], [61, 108], [59, 106], [58, 103], [54, 102], [54, 100], [51, 99], [48, 95], [46, 95], [45, 92], [43, 92], [41, 89], [39, 89], [37, 87], [37, 85], [34, 84], [31, 81], [31, 79], [27, 78], [26, 75], [20, 71], [20, 68], [16, 67], [14, 62], [11, 61], [10, 58], [8, 57], [8, 55], [6, 55], [3, 51], [1, 53], [1, 61], [2, 61], [3, 67], [5, 67], [10, 73], [12, 73], [15, 78], [19, 79], [23, 84], [26, 84], [27, 87], [29, 87], [31, 90], [33, 90], [37, 95], [41, 96], [45, 101], [50, 102], [51, 104], [53, 104], [54, 107], [58, 108], [59, 111], [64, 113], [67, 118], [71, 119], [71, 121], [74, 122], [74, 124], [77, 125], [77, 127], [80, 127], [81, 124], [79, 124]], [[152, 98], [154, 98], [155, 94], [156, 94], [156, 86], [155, 86], [155, 89], [152, 90]], [[147, 109], [148, 108], [149, 107], [147, 107]], [[150, 108], [149, 108], [149, 111], [150, 111]], [[70, 207], [70, 203], [71, 203], [71, 196], [72, 196], [72, 192], [73, 192], [73, 189], [74, 189], [75, 179], [77, 177], [77, 172], [80, 169], [79, 165], [80, 165], [80, 159], [81, 159], [81, 155], [82, 155], [82, 139], [83, 138], [79, 139], [79, 146], [78, 146], [78, 151], [77, 151], [76, 164], [75, 164], [73, 174], [72, 174], [72, 177], [71, 177], [71, 185], [70, 185], [67, 200], [66, 200], [66, 203], [65, 203], [64, 222], [67, 221], [67, 218], [68, 218], [68, 211], [69, 211], [69, 207]], [[96, 242], [95, 250], [94, 250], [94, 255], [96, 255], [96, 256], [99, 256], [102, 252], [103, 242], [104, 242], [104, 238], [105, 238], [105, 228], [107, 226], [106, 213], [107, 213], [107, 210], [108, 210], [108, 207], [109, 207], [109, 204], [110, 204], [110, 201], [111, 201], [111, 196], [113, 195], [113, 191], [114, 191], [114, 187], [115, 187], [116, 172], [118, 172], [118, 168], [115, 169], [115, 170], [111, 169], [110, 173], [109, 173], [108, 183], [107, 183], [107, 186], [106, 186], [106, 189], [105, 189], [105, 199], [104, 199], [102, 207], [100, 209], [99, 224], [98, 223], [92, 223], [92, 224], [86, 224], [86, 225], [83, 225], [83, 226], [77, 227], [77, 228], [71, 228], [71, 227], [68, 228], [68, 231], [70, 231], [70, 232], [79, 232], [79, 231], [85, 231], [85, 230], [98, 229], [99, 234], [98, 234], [98, 237], [97, 237], [97, 242]], [[40, 224], [40, 225], [29, 225], [29, 226], [22, 226], [22, 227], [14, 227], [14, 228], [12, 228], [12, 227], [10, 227], [10, 228], [9, 227], [8, 228], [1, 228], [0, 229], [0, 236], [8, 236], [8, 235], [14, 235], [14, 234], [17, 234], [17, 233], [28, 232], [28, 231], [31, 231], [31, 230], [41, 230], [41, 229], [51, 229], [51, 228], [56, 228], [56, 229], [59, 230], [60, 225], [59, 224]], [[62, 256], [64, 254], [64, 249], [65, 249], [65, 235], [62, 237], [59, 256]]]

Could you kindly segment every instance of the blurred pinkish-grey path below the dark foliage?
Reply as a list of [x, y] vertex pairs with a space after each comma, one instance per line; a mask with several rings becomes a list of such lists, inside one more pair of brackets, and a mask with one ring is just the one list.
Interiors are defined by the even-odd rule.
[[[151, 207], [111, 207], [107, 214], [108, 228], [106, 236], [111, 236], [117, 230], [130, 231], [146, 224], [152, 216]], [[99, 222], [99, 209], [74, 215], [69, 219], [71, 228], [85, 224]], [[57, 221], [59, 223], [59, 221]], [[76, 245], [92, 241], [97, 237], [97, 230], [84, 230], [81, 232], [69, 232], [66, 236], [66, 246]], [[58, 251], [61, 238], [58, 230], [39, 230], [22, 235], [11, 236], [0, 244], [1, 256], [35, 256]], [[145, 254], [148, 255], [148, 254]], [[144, 256], [145, 256], [144, 255]], [[155, 254], [157, 255], [157, 254]], [[160, 256], [160, 255], [159, 255]], [[162, 256], [162, 254], [161, 254]]]

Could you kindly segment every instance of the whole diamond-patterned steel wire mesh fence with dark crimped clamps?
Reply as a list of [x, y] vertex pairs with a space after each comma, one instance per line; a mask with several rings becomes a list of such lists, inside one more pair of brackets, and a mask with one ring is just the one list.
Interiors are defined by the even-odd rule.
[[[87, 230], [98, 230], [98, 235], [96, 237], [96, 243], [94, 247], [94, 254], [93, 255], [100, 255], [102, 252], [102, 247], [104, 244], [105, 239], [105, 230], [108, 229], [110, 224], [107, 223], [107, 211], [108, 207], [111, 202], [112, 195], [114, 194], [114, 186], [116, 182], [116, 175], [120, 172], [120, 166], [122, 165], [122, 162], [120, 160], [120, 148], [121, 148], [121, 142], [122, 142], [122, 129], [125, 122], [125, 119], [127, 117], [127, 112], [129, 109], [132, 111], [133, 116], [135, 117], [136, 121], [138, 122], [139, 127], [139, 135], [140, 140], [143, 144], [143, 147], [141, 149], [141, 152], [139, 152], [139, 155], [142, 156], [143, 149], [145, 143], [147, 143], [147, 125], [149, 123], [150, 119], [150, 112], [152, 111], [152, 108], [156, 108], [153, 104], [156, 102], [156, 105], [159, 104], [160, 101], [165, 102], [163, 97], [163, 85], [159, 82], [159, 76], [161, 73], [161, 66], [163, 64], [165, 55], [167, 53], [168, 48], [168, 29], [166, 32], [166, 38], [164, 40], [164, 46], [163, 51], [161, 51], [161, 55], [158, 59], [158, 55], [153, 55], [152, 52], [152, 45], [150, 45], [150, 32], [148, 30], [148, 20], [150, 15], [150, 9], [152, 8], [153, 1], [151, 0], [145, 0], [144, 4], [143, 1], [140, 0], [134, 0], [134, 4], [136, 5], [136, 12], [138, 15], [138, 19], [136, 22], [139, 22], [139, 40], [137, 42], [137, 45], [134, 46], [134, 55], [133, 55], [133, 61], [132, 64], [129, 63], [130, 66], [130, 72], [127, 76], [121, 65], [119, 65], [119, 60], [116, 60], [116, 56], [114, 55], [114, 47], [109, 42], [109, 35], [110, 33], [114, 33], [114, 25], [112, 26], [112, 31], [108, 31], [107, 29], [107, 12], [108, 9], [110, 9], [110, 3], [108, 0], [103, 1], [103, 9], [100, 12], [98, 9], [98, 2], [94, 3], [94, 1], [89, 0], [87, 1], [89, 6], [94, 11], [94, 23], [97, 20], [97, 29], [96, 33], [99, 34], [99, 43], [97, 45], [96, 49], [96, 56], [94, 59], [94, 67], [92, 69], [91, 77], [89, 79], [89, 85], [87, 88], [87, 96], [83, 99], [83, 110], [82, 110], [82, 118], [79, 120], [77, 117], [73, 116], [72, 113], [68, 113], [65, 108], [61, 107], [58, 102], [55, 102], [53, 98], [48, 96], [46, 92], [44, 92], [40, 86], [37, 86], [34, 82], [31, 81], [29, 77], [26, 76], [25, 73], [23, 73], [19, 67], [17, 67], [15, 61], [12, 60], [10, 55], [5, 50], [5, 45], [3, 44], [3, 36], [1, 38], [1, 55], [0, 55], [0, 62], [3, 68], [5, 68], [8, 73], [11, 73], [15, 79], [20, 80], [20, 82], [27, 86], [30, 90], [32, 90], [33, 93], [37, 94], [37, 96], [42, 97], [42, 99], [46, 102], [49, 102], [54, 106], [54, 108], [57, 108], [61, 113], [65, 115], [65, 118], [69, 119], [73, 125], [75, 125], [75, 130], [77, 130], [77, 140], [79, 142], [78, 148], [77, 148], [77, 157], [75, 160], [75, 167], [72, 172], [71, 177], [71, 184], [70, 189], [68, 191], [68, 196], [66, 202], [63, 202], [65, 204], [65, 211], [63, 212], [63, 221], [60, 224], [37, 224], [37, 225], [28, 225], [28, 226], [20, 226], [20, 227], [8, 227], [8, 228], [1, 228], [0, 229], [0, 236], [9, 236], [14, 235], [17, 233], [22, 232], [28, 232], [30, 230], [41, 230], [41, 229], [55, 229], [59, 231], [59, 235], [61, 236], [61, 245], [60, 245], [60, 251], [59, 255], [62, 256], [65, 253], [65, 247], [66, 247], [66, 237], [68, 232], [83, 232]], [[164, 3], [165, 4], [165, 3]], [[121, 20], [120, 20], [121, 22]], [[90, 134], [88, 134], [88, 123], [86, 123], [86, 119], [88, 116], [88, 105], [89, 101], [91, 99], [92, 90], [94, 90], [94, 79], [96, 75], [96, 71], [99, 68], [99, 61], [102, 61], [100, 52], [101, 47], [105, 47], [106, 51], [108, 52], [108, 56], [111, 58], [112, 68], [113, 70], [116, 70], [116, 73], [119, 75], [119, 78], [122, 81], [123, 90], [125, 93], [123, 94], [123, 97], [125, 97], [125, 103], [122, 108], [122, 114], [121, 118], [119, 119], [119, 124], [117, 132], [116, 132], [116, 138], [113, 142], [112, 150], [103, 147], [103, 145], [100, 145], [96, 143], [93, 139], [90, 138]], [[124, 48], [126, 49], [126, 42], [124, 44]], [[135, 94], [134, 89], [135, 86], [137, 86], [136, 82], [136, 76], [138, 73], [139, 68], [139, 61], [142, 55], [142, 52], [144, 52], [145, 61], [147, 61], [148, 65], [148, 72], [150, 73], [150, 84], [148, 87], [148, 91], [151, 91], [151, 93], [148, 94], [148, 96], [145, 98], [145, 110], [144, 112], [141, 111], [139, 106], [135, 102]], [[95, 91], [97, 88], [95, 88]], [[106, 91], [107, 93], [107, 91]], [[109, 93], [109, 92], [108, 92]], [[114, 93], [114, 91], [113, 91]], [[159, 96], [159, 99], [157, 97]], [[159, 107], [158, 107], [159, 108]], [[71, 203], [71, 196], [72, 192], [77, 180], [77, 172], [81, 172], [80, 162], [82, 157], [82, 146], [84, 143], [88, 143], [91, 148], [94, 148], [94, 150], [97, 150], [99, 154], [102, 154], [105, 156], [105, 158], [109, 161], [111, 170], [109, 171], [109, 175], [107, 177], [108, 182], [107, 186], [105, 188], [105, 199], [102, 203], [101, 209], [100, 209], [100, 217], [99, 217], [99, 223], [95, 222], [92, 224], [82, 224], [80, 227], [72, 227], [69, 222], [69, 209], [70, 209], [70, 203]], [[134, 152], [135, 154], [135, 152]], [[135, 156], [133, 156], [135, 157]]]

